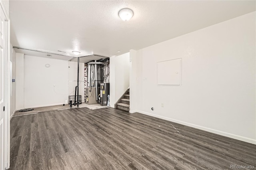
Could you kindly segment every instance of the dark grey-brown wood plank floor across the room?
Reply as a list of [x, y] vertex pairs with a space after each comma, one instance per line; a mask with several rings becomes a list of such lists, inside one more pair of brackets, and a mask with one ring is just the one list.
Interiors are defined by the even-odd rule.
[[256, 167], [254, 144], [118, 109], [48, 111], [10, 125], [10, 170]]

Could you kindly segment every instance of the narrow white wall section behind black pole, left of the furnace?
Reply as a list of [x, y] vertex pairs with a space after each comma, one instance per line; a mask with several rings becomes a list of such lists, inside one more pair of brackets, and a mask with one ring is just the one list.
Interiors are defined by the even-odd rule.
[[[84, 63], [79, 63], [79, 95], [84, 102]], [[77, 62], [68, 61], [68, 94], [75, 95], [77, 85]], [[73, 101], [74, 102], [74, 101]]]

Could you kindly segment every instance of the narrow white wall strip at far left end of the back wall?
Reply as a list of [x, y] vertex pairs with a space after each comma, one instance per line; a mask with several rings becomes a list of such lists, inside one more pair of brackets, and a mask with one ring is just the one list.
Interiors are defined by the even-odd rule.
[[24, 54], [16, 53], [16, 110], [24, 109]]

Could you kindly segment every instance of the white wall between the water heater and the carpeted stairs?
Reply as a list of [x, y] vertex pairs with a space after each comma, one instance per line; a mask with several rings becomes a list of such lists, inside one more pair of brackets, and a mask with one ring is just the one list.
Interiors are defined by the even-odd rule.
[[130, 53], [110, 57], [110, 106], [124, 94], [130, 86]]

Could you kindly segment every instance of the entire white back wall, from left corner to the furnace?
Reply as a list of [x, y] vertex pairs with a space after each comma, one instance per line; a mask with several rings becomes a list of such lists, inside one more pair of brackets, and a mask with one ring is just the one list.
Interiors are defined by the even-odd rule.
[[[16, 109], [62, 105], [74, 95], [77, 63], [16, 53]], [[50, 64], [50, 67], [45, 67]], [[80, 63], [79, 94], [84, 101], [84, 63]], [[67, 103], [66, 103], [67, 101]]]

